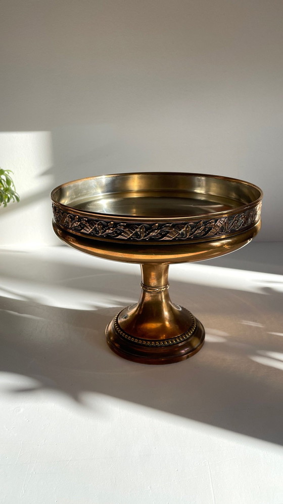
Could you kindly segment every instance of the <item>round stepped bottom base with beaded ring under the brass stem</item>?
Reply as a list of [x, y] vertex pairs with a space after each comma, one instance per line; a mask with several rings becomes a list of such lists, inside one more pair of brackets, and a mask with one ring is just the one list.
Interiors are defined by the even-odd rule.
[[113, 352], [130, 361], [142, 364], [171, 364], [192, 357], [204, 344], [205, 330], [195, 317], [187, 332], [173, 338], [155, 340], [139, 339], [125, 333], [119, 325], [118, 317], [119, 314], [106, 328], [107, 343]]

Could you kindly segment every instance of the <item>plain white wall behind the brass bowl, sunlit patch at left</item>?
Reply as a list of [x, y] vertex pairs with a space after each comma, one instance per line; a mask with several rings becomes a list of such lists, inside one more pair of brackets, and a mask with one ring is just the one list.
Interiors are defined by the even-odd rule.
[[[281, 0], [4, 0], [2, 245], [58, 243], [50, 189], [121, 171], [239, 177], [282, 240]], [[37, 221], [40, 221], [38, 229]]]

